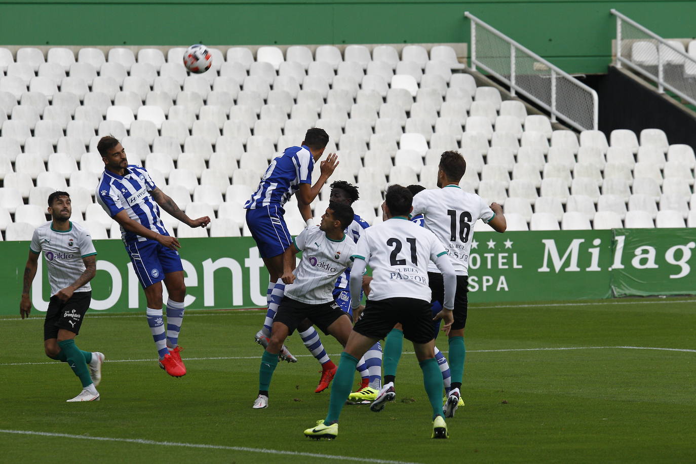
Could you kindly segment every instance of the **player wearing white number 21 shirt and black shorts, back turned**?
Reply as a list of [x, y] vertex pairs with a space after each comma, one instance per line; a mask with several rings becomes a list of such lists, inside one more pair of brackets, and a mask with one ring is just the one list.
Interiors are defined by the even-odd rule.
[[[359, 319], [341, 354], [331, 387], [329, 414], [326, 419], [317, 421], [316, 426], [304, 431], [309, 438], [332, 439], [338, 436], [338, 417], [350, 392], [358, 359], [374, 342], [385, 337], [396, 323], [402, 324], [404, 336], [413, 342], [423, 372], [425, 390], [433, 410], [432, 438], [449, 436], [442, 417], [442, 376], [434, 358], [427, 275], [429, 261], [436, 262], [443, 275], [445, 309], [436, 319], [445, 319], [445, 328], [449, 328], [453, 321], [450, 308], [454, 304], [457, 283], [441, 241], [429, 230], [409, 221], [412, 199], [411, 192], [405, 187], [390, 186], [382, 205], [385, 221], [365, 230], [358, 241], [351, 271], [351, 294], [359, 294], [361, 274], [369, 264], [373, 275], [370, 298], [365, 307], [357, 298], [351, 302], [354, 315], [358, 314]], [[379, 411], [383, 406], [383, 401], [375, 401], [370, 408]]]

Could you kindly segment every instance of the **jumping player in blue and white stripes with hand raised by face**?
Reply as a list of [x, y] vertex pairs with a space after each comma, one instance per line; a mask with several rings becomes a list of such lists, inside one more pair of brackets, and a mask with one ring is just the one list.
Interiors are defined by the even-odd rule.
[[[324, 154], [327, 143], [329, 143], [329, 135], [324, 129], [317, 127], [309, 129], [300, 147], [287, 148], [283, 154], [271, 161], [261, 178], [258, 189], [244, 205], [246, 224], [271, 276], [267, 291], [266, 319], [255, 336], [256, 342], [264, 347], [268, 345], [273, 319], [285, 291], [285, 284], [280, 279], [283, 275], [283, 253], [292, 243], [292, 237], [283, 217], [285, 215], [283, 207], [292, 195], [296, 195], [297, 207], [302, 218], [307, 225], [313, 224], [310, 204], [317, 198], [326, 180], [338, 166], [336, 154], [329, 154], [329, 157], [319, 165], [321, 175], [312, 185], [314, 163]], [[280, 357], [288, 362], [297, 362], [285, 346], [280, 351]]]

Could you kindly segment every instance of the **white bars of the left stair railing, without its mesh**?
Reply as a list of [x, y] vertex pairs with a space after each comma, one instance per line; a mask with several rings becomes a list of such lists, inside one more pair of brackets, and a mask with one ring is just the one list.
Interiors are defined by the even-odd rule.
[[[510, 88], [510, 93], [512, 95], [515, 95], [516, 92], [521, 93], [528, 99], [530, 99], [532, 102], [535, 102], [537, 105], [541, 106], [541, 108], [546, 109], [549, 113], [551, 113], [551, 120], [555, 121], [556, 118], [560, 118], [567, 122], [569, 125], [572, 127], [575, 127], [578, 130], [585, 130], [585, 129], [598, 129], [598, 121], [599, 121], [599, 97], [597, 96], [597, 93], [594, 91], [594, 89], [586, 86], [584, 83], [578, 81], [578, 79], [572, 77], [570, 74], [567, 72], [563, 71], [560, 69], [560, 67], [557, 67], [548, 61], [546, 61], [544, 58], [541, 58], [541, 56], [535, 54], [533, 51], [530, 49], [524, 47], [523, 45], [519, 44], [515, 40], [512, 40], [512, 38], [509, 38], [507, 35], [503, 34], [502, 32], [498, 31], [497, 29], [493, 28], [493, 26], [490, 26], [489, 24], [483, 22], [481, 19], [475, 17], [468, 11], [464, 13], [464, 16], [470, 19], [472, 23], [476, 23], [482, 28], [486, 29], [493, 35], [496, 35], [498, 38], [501, 38], [505, 40], [505, 42], [509, 43], [510, 45], [510, 79], [507, 79], [506, 77], [500, 75], [498, 72], [492, 70], [490, 67], [488, 67], [485, 63], [482, 63], [477, 58], [476, 54], [476, 28], [472, 24], [471, 25], [471, 51], [470, 51], [470, 57], [471, 57], [471, 68], [473, 70], [476, 70], [476, 67], [481, 67], [483, 70], [489, 72], [489, 74], [495, 76], [498, 78], [500, 81], [503, 81], [507, 86]], [[515, 59], [516, 59], [516, 50], [523, 51], [525, 54], [528, 56], [534, 58], [535, 60], [539, 61], [539, 63], [542, 63], [543, 65], [547, 66], [548, 69], [551, 72], [551, 104], [547, 104], [546, 102], [541, 101], [535, 95], [532, 95], [530, 92], [525, 90], [523, 87], [519, 86], [519, 84], [516, 82], [516, 69], [515, 69]], [[590, 93], [592, 95], [592, 127], [583, 127], [580, 125], [578, 122], [576, 122], [573, 118], [571, 118], [568, 115], [565, 115], [558, 111], [557, 109], [557, 95], [556, 95], [556, 79], [558, 77], [563, 77], [564, 79], [567, 79], [567, 81], [573, 83], [575, 86], [578, 86], [579, 88], [582, 88], [585, 90], [587, 93]]]

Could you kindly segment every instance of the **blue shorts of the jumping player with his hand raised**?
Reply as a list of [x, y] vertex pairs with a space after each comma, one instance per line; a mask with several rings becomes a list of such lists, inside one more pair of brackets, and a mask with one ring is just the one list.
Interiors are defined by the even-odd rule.
[[278, 205], [246, 210], [246, 225], [262, 258], [282, 255], [292, 243], [283, 214], [285, 210]]

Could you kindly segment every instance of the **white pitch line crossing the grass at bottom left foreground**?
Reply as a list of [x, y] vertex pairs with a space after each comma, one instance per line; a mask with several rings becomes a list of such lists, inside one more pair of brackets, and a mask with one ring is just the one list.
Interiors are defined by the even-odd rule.
[[283, 451], [279, 449], [250, 448], [250, 447], [230, 447], [225, 445], [205, 445], [203, 443], [178, 443], [178, 442], [157, 442], [155, 440], [143, 440], [141, 438], [113, 438], [113, 437], [92, 437], [90, 435], [70, 435], [69, 433], [49, 433], [36, 432], [29, 430], [6, 430], [0, 429], [0, 433], [14, 433], [15, 435], [39, 435], [43, 437], [74, 438], [76, 440], [96, 440], [101, 442], [125, 442], [137, 443], [139, 445], [160, 445], [167, 447], [184, 448], [203, 448], [203, 449], [226, 449], [229, 451], [248, 451], [250, 453], [262, 454], [283, 454], [285, 456], [306, 456], [308, 458], [335, 459], [338, 461], [358, 461], [363, 463], [378, 464], [416, 464], [405, 461], [390, 461], [388, 459], [356, 458], [353, 456], [334, 456], [331, 454], [304, 453], [302, 451]]

